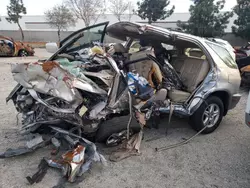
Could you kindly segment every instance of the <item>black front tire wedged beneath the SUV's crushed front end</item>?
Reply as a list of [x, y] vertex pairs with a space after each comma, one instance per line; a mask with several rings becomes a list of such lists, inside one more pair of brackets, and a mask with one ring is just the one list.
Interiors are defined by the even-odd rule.
[[[104, 121], [100, 124], [100, 127], [96, 133], [96, 142], [106, 142], [108, 137], [113, 133], [119, 133], [127, 129], [127, 124], [129, 121], [129, 116], [114, 117], [110, 120]], [[133, 121], [131, 122], [130, 128], [134, 133], [140, 131], [140, 125]]]

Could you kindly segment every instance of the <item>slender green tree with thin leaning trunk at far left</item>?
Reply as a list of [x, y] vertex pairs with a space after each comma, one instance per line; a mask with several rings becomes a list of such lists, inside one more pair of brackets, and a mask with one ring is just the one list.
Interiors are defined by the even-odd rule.
[[16, 23], [21, 31], [22, 40], [24, 40], [24, 34], [19, 20], [22, 18], [22, 14], [26, 14], [26, 8], [24, 7], [23, 0], [10, 0], [10, 5], [7, 6], [8, 17], [6, 20], [10, 23]]

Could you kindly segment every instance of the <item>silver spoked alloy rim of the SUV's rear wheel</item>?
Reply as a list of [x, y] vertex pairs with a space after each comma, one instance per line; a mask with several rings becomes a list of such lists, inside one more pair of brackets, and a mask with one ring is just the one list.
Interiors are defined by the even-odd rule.
[[203, 113], [202, 121], [204, 126], [213, 127], [219, 120], [220, 108], [217, 104], [210, 104]]

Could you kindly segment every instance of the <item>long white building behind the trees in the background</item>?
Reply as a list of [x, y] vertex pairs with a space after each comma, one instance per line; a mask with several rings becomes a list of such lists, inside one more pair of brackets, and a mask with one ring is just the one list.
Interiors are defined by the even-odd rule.
[[[170, 17], [166, 18], [165, 20], [159, 20], [159, 21], [153, 23], [153, 25], [164, 27], [164, 28], [176, 29], [176, 27], [177, 27], [176, 22], [178, 20], [186, 22], [186, 21], [188, 21], [189, 18], [190, 18], [189, 13], [173, 13]], [[129, 15], [122, 15], [121, 19], [122, 19], [122, 21], [128, 21]], [[232, 27], [233, 21], [235, 19], [236, 19], [236, 15], [234, 15], [230, 19], [230, 22], [229, 22], [225, 32], [231, 33], [231, 27]], [[112, 14], [105, 14], [98, 19], [97, 23], [101, 23], [101, 22], [105, 22], [105, 21], [109, 21], [110, 24], [113, 24], [113, 23], [117, 22], [118, 20]], [[130, 21], [140, 22], [140, 23], [147, 22], [146, 20], [142, 20], [137, 15], [133, 15]], [[0, 23], [1, 23], [0, 24], [0, 31], [1, 30], [18, 30], [18, 26], [16, 24], [10, 24], [9, 22], [7, 22], [4, 16], [1, 17]], [[92, 24], [94, 24], [94, 23], [92, 23]], [[20, 25], [21, 25], [23, 30], [39, 30], [39, 31], [41, 31], [41, 30], [44, 30], [44, 31], [53, 30], [48, 25], [48, 23], [46, 22], [45, 16], [43, 16], [43, 15], [41, 15], [41, 16], [23, 16], [22, 19], [20, 20]], [[75, 30], [81, 29], [83, 27], [85, 27], [83, 21], [78, 20], [78, 22], [76, 23], [76, 26], [68, 28], [68, 31], [75, 31]]]

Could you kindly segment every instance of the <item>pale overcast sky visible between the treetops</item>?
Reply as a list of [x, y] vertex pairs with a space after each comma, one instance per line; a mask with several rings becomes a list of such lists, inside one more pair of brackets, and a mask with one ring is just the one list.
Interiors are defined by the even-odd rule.
[[[136, 4], [138, 0], [131, 0]], [[7, 15], [6, 7], [10, 0], [0, 0], [0, 15]], [[27, 15], [43, 15], [43, 13], [53, 7], [60, 4], [63, 0], [23, 0], [24, 5], [27, 8]], [[108, 2], [108, 0], [106, 0]], [[175, 12], [188, 12], [191, 0], [171, 0], [171, 4], [175, 5]], [[226, 0], [224, 10], [231, 10], [236, 5], [236, 0]]]

